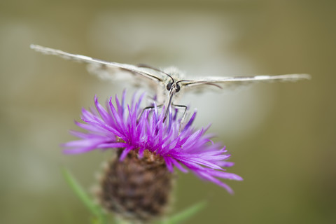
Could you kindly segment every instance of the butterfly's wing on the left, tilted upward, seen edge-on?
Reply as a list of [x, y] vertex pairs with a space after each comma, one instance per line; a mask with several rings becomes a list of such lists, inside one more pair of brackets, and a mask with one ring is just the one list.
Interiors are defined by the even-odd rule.
[[[148, 69], [144, 69], [138, 66], [134, 66], [132, 64], [120, 64], [118, 62], [107, 62], [102, 59], [95, 59], [92, 57], [87, 57], [85, 55], [74, 55], [69, 52], [64, 52], [62, 50], [56, 50], [52, 48], [45, 48], [41, 45], [31, 44], [30, 48], [36, 50], [37, 52], [42, 52], [45, 55], [56, 55], [62, 57], [64, 59], [70, 59], [76, 62], [83, 62], [89, 64], [88, 70], [92, 73], [95, 73], [101, 76], [99, 73], [102, 73], [104, 78], [113, 78], [113, 71], [115, 69], [121, 69], [123, 71], [129, 71], [130, 73], [139, 75], [144, 78], [148, 78], [149, 80], [153, 80], [156, 82], [162, 82], [163, 77], [160, 76], [160, 73], [148, 71]], [[109, 77], [111, 76], [111, 77]]]

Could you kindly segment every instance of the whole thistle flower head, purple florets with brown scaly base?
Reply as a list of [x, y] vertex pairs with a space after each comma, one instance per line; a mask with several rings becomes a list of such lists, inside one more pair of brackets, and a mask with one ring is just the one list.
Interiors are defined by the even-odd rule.
[[118, 151], [118, 158], [111, 161], [101, 181], [102, 205], [139, 221], [159, 216], [169, 202], [174, 167], [193, 172], [232, 193], [219, 179], [242, 179], [223, 169], [233, 163], [226, 161], [230, 155], [225, 147], [211, 141], [214, 135], [205, 133], [209, 126], [200, 130], [192, 127], [196, 112], [180, 133], [178, 111], [169, 111], [169, 119], [163, 122], [165, 114], [159, 113], [156, 106], [153, 111], [141, 108], [143, 98], [144, 94], [139, 98], [134, 94], [132, 103], [125, 106], [124, 92], [121, 103], [116, 97], [113, 106], [111, 97], [104, 109], [94, 97], [95, 109], [82, 110], [85, 123], [76, 122], [86, 132], [71, 131], [80, 139], [63, 145], [68, 154], [94, 149]]

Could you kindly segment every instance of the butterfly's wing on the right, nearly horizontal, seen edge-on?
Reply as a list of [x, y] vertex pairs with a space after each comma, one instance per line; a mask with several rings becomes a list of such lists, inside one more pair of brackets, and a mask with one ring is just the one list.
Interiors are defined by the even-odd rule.
[[[197, 89], [196, 87], [203, 87], [204, 85], [214, 85], [221, 89], [231, 85], [246, 85], [249, 83], [259, 82], [274, 82], [274, 81], [297, 81], [310, 79], [308, 74], [288, 74], [280, 76], [236, 76], [236, 77], [213, 77], [204, 78], [199, 80], [181, 80], [181, 85], [190, 87], [189, 89]], [[187, 88], [188, 89], [188, 88]]]

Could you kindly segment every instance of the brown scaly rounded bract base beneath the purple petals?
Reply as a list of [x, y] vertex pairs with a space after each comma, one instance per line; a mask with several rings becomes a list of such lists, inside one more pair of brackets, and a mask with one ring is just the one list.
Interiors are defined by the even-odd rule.
[[164, 214], [172, 192], [173, 174], [165, 160], [144, 151], [139, 158], [137, 151], [130, 151], [123, 161], [119, 157], [109, 162], [101, 181], [99, 201], [108, 211], [125, 219], [148, 222]]

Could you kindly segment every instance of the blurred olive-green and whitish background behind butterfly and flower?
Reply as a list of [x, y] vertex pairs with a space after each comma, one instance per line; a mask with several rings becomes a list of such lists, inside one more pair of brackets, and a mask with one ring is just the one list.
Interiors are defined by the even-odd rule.
[[94, 94], [125, 88], [30, 43], [188, 76], [311, 73], [183, 98], [244, 181], [232, 196], [180, 174], [173, 212], [207, 200], [188, 223], [336, 223], [335, 22], [336, 1], [1, 1], [0, 223], [89, 223], [60, 169], [89, 189], [111, 154], [59, 144]]

